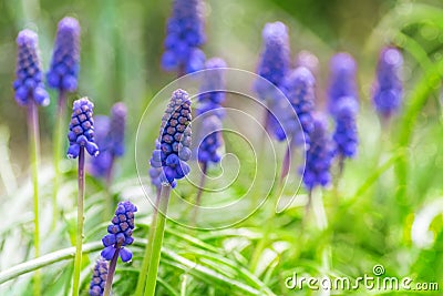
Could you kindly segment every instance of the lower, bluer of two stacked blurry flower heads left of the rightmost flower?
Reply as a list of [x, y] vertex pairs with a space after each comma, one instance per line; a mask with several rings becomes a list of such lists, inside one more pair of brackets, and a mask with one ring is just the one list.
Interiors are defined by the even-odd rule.
[[353, 96], [344, 96], [336, 105], [333, 141], [336, 153], [341, 157], [352, 157], [357, 153], [359, 139], [356, 115], [358, 110], [359, 105]]

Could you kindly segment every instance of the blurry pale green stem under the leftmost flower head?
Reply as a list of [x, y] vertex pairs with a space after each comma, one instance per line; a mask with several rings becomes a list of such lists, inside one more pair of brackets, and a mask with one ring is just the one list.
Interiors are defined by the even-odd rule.
[[[35, 102], [29, 101], [28, 104], [28, 129], [29, 129], [29, 152], [32, 166], [32, 186], [34, 204], [34, 252], [35, 257], [40, 256], [40, 224], [39, 224], [39, 155], [40, 155], [40, 133], [39, 133], [39, 113]], [[33, 294], [40, 295], [41, 274], [37, 271], [34, 274]]]

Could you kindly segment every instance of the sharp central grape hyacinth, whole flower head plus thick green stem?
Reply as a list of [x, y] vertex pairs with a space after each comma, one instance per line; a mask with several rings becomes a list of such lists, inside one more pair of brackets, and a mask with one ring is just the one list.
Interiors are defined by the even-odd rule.
[[135, 295], [154, 296], [155, 294], [171, 190], [176, 186], [176, 180], [183, 178], [189, 173], [186, 162], [192, 154], [189, 149], [190, 120], [189, 95], [183, 90], [176, 90], [162, 119], [159, 145], [156, 145], [151, 157], [151, 166], [158, 171], [161, 188]]

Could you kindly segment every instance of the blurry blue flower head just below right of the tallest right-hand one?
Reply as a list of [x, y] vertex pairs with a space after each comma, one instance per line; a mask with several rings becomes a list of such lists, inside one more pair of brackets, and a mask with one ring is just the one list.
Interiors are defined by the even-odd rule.
[[292, 134], [295, 136], [295, 143], [303, 140], [306, 144], [309, 145], [309, 134], [313, 131], [312, 112], [315, 105], [315, 84], [316, 79], [308, 68], [299, 67], [292, 70], [285, 79], [282, 83], [282, 91], [288, 98], [290, 104], [296, 112], [298, 120], [300, 121], [302, 135], [297, 134], [298, 122], [296, 119], [289, 119], [286, 123], [286, 127], [289, 132], [296, 132]]

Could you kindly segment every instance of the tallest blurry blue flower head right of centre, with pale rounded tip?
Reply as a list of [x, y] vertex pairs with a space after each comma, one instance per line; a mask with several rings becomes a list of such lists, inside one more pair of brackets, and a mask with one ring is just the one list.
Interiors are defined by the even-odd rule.
[[[265, 24], [262, 30], [262, 50], [257, 74], [279, 88], [289, 71], [290, 49], [288, 28], [282, 22]], [[255, 90], [262, 100], [275, 100], [275, 88], [257, 80]]]

